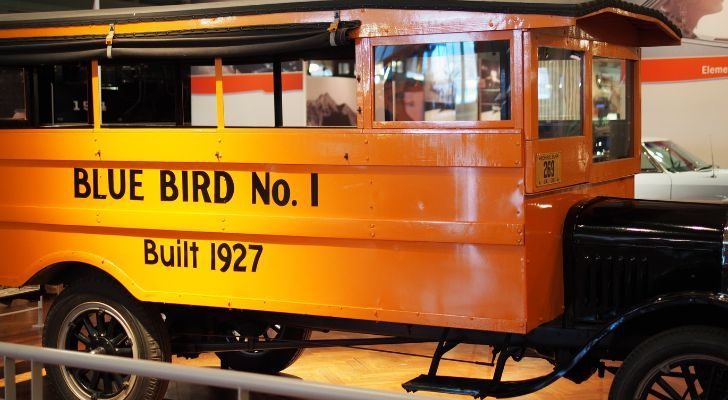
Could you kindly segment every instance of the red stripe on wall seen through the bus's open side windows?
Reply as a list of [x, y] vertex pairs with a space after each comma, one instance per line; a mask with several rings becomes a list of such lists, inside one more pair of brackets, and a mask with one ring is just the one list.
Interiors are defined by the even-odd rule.
[[[193, 76], [192, 94], [215, 94], [214, 76]], [[303, 90], [302, 72], [281, 74], [283, 91]], [[225, 93], [259, 92], [273, 93], [273, 74], [223, 75], [222, 88]]]

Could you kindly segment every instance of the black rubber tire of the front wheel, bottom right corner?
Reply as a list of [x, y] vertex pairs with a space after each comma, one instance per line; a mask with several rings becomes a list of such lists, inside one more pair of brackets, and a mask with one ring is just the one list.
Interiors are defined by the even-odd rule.
[[656, 365], [680, 355], [711, 355], [728, 362], [728, 331], [710, 326], [688, 326], [665, 331], [646, 340], [624, 360], [609, 390], [609, 400], [637, 398], [637, 390]]

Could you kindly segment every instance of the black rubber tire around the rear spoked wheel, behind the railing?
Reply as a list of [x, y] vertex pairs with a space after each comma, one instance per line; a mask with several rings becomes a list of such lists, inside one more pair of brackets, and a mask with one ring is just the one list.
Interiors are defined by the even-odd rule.
[[[170, 341], [160, 313], [155, 307], [144, 305], [133, 298], [116, 282], [108, 279], [83, 279], [66, 287], [55, 299], [46, 317], [43, 330], [43, 346], [59, 348], [58, 338], [65, 317], [85, 302], [101, 302], [117, 311], [133, 330], [139, 343], [139, 358], [154, 361], [171, 361]], [[79, 399], [63, 378], [61, 367], [46, 366], [46, 372], [62, 399]], [[167, 391], [167, 381], [156, 378], [136, 377], [124, 400], [160, 400]], [[90, 399], [87, 397], [86, 399]]]

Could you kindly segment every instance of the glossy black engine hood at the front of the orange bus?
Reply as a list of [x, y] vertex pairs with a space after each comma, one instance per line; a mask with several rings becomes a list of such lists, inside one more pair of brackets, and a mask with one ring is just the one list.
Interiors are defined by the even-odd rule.
[[601, 326], [669, 293], [728, 293], [728, 207], [597, 197], [564, 221], [564, 326]]

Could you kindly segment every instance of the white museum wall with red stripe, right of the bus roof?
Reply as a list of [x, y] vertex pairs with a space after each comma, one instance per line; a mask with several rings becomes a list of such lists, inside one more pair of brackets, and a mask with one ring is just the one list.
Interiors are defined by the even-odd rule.
[[728, 167], [728, 5], [724, 0], [631, 0], [670, 15], [682, 46], [642, 51], [642, 135], [672, 139]]

